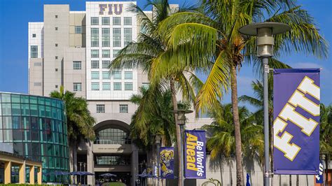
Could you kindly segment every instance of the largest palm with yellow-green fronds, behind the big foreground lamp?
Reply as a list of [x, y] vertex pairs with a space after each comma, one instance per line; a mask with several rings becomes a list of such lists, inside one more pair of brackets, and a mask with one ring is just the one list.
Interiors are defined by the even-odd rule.
[[[275, 36], [275, 56], [304, 52], [326, 57], [326, 41], [319, 35], [313, 18], [296, 4], [286, 1], [202, 0], [201, 12], [175, 13], [162, 21], [160, 33], [167, 38], [167, 48], [181, 51], [181, 60], [174, 60], [172, 71], [184, 66], [195, 68], [212, 60], [205, 84], [198, 92], [195, 106], [205, 111], [230, 86], [235, 124], [237, 185], [242, 185], [242, 148], [240, 118], [237, 108], [237, 71], [242, 63], [254, 64], [261, 73], [261, 62], [256, 57], [254, 37], [244, 36], [238, 29], [254, 22], [283, 22], [291, 32]], [[284, 66], [276, 58], [270, 67]], [[159, 66], [159, 71], [165, 71]], [[197, 110], [198, 111], [198, 110]]]

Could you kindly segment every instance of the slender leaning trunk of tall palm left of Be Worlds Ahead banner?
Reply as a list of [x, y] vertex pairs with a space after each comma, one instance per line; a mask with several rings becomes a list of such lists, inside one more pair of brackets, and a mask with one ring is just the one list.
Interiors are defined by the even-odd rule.
[[[177, 110], [177, 90], [175, 90], [175, 85], [174, 85], [174, 78], [171, 78], [170, 80], [170, 89], [172, 92], [172, 102], [173, 102], [173, 110]], [[177, 154], [178, 154], [178, 161], [179, 161], [179, 186], [184, 186], [182, 185], [182, 172], [184, 171], [184, 168], [182, 167], [181, 164], [181, 129], [180, 126], [177, 122], [177, 113], [174, 113], [174, 122], [176, 125], [176, 130], [177, 130]]]

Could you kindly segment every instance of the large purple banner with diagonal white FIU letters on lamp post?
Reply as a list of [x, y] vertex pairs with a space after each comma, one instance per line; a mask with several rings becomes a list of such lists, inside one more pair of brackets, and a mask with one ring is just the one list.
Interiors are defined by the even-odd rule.
[[275, 174], [319, 173], [319, 69], [275, 69]]

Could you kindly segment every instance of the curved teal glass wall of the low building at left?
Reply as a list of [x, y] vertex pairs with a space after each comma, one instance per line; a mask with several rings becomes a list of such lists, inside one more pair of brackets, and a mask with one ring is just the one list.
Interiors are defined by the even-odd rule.
[[43, 162], [43, 182], [64, 182], [55, 171], [69, 171], [64, 103], [43, 96], [0, 92], [0, 143]]

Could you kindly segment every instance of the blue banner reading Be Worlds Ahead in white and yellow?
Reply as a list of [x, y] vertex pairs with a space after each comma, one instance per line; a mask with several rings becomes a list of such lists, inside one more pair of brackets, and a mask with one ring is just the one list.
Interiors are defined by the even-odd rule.
[[185, 132], [185, 177], [189, 179], [205, 179], [206, 177], [206, 151], [205, 131]]

